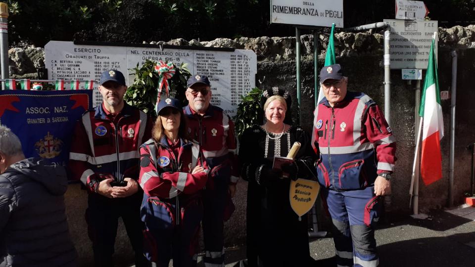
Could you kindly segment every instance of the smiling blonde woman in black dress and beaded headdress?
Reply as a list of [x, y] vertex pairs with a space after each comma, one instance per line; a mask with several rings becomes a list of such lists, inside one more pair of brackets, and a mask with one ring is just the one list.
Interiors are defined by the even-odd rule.
[[[289, 202], [290, 178], [315, 179], [316, 155], [310, 146], [309, 135], [301, 128], [285, 124], [290, 108], [287, 92], [273, 88], [265, 91], [266, 123], [246, 129], [240, 139], [239, 161], [241, 177], [247, 187], [247, 260], [250, 267], [309, 266], [307, 216], [301, 220]], [[287, 118], [288, 119], [288, 118]], [[295, 161], [273, 170], [274, 157], [286, 157], [294, 142], [301, 147]]]

